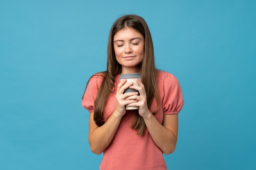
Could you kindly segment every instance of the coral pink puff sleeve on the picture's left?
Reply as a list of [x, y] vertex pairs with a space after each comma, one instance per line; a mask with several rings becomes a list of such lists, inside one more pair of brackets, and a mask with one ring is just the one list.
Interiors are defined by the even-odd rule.
[[82, 106], [89, 112], [94, 112], [95, 99], [97, 97], [99, 87], [101, 86], [102, 81], [103, 77], [101, 75], [94, 74], [88, 82], [88, 86], [83, 95]]

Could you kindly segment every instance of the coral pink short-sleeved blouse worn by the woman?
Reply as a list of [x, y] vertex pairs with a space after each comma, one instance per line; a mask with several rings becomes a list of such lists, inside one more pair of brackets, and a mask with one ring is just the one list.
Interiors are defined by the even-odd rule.
[[[120, 74], [116, 76], [115, 92], [110, 95], [106, 103], [104, 118], [107, 120], [116, 108], [115, 94], [120, 83]], [[82, 106], [89, 112], [94, 112], [94, 101], [101, 85], [102, 76], [90, 79], [83, 96]], [[155, 117], [162, 124], [165, 114], [177, 114], [182, 109], [182, 90], [180, 84], [172, 74], [157, 70], [157, 86], [160, 97], [160, 109]], [[153, 100], [150, 111], [154, 112], [157, 103]], [[135, 111], [127, 110], [122, 117], [117, 132], [110, 145], [103, 151], [100, 170], [166, 170], [166, 162], [148, 130], [138, 136], [136, 130], [130, 126], [134, 120]]]

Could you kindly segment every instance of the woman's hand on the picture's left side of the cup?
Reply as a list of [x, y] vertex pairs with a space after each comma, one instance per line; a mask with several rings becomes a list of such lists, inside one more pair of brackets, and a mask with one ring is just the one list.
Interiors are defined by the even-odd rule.
[[132, 82], [126, 83], [126, 79], [122, 80], [117, 85], [117, 94], [116, 94], [116, 100], [117, 100], [117, 107], [116, 107], [116, 113], [118, 113], [120, 116], [124, 116], [126, 113], [125, 106], [128, 104], [131, 104], [133, 102], [137, 102], [138, 100], [126, 100], [126, 98], [134, 95], [138, 95], [138, 92], [128, 92], [124, 93], [125, 89], [130, 87], [132, 85]]

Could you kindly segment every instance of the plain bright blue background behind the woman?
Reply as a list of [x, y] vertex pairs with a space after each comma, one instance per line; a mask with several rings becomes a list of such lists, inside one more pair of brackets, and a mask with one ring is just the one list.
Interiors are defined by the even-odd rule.
[[256, 169], [255, 9], [254, 0], [1, 0], [0, 169], [98, 169], [81, 97], [106, 70], [113, 22], [133, 13], [148, 23], [157, 68], [184, 94], [168, 169]]

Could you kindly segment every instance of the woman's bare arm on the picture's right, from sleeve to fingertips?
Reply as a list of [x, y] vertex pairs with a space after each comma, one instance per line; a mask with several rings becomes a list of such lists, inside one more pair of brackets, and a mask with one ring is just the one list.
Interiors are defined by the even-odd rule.
[[141, 81], [137, 80], [139, 86], [130, 86], [130, 88], [139, 91], [140, 96], [130, 96], [127, 99], [136, 99], [138, 102], [127, 106], [138, 106], [139, 115], [144, 119], [148, 132], [155, 144], [164, 154], [168, 155], [174, 152], [178, 135], [178, 115], [164, 115], [163, 123], [160, 124], [155, 116], [150, 112], [147, 105], [145, 87]]

